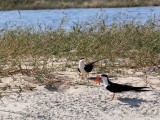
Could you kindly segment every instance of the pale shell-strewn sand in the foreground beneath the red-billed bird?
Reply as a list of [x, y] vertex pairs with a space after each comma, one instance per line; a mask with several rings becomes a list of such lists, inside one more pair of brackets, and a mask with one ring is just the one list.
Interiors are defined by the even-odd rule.
[[[62, 75], [63, 76], [63, 75]], [[76, 73], [66, 73], [73, 81]], [[159, 76], [150, 76], [155, 90], [116, 94], [106, 91], [103, 85], [72, 85], [69, 88], [49, 91], [43, 86], [32, 92], [14, 93], [0, 101], [1, 120], [159, 120]], [[2, 79], [4, 82], [5, 79]], [[118, 77], [117, 83], [144, 86], [140, 77]]]

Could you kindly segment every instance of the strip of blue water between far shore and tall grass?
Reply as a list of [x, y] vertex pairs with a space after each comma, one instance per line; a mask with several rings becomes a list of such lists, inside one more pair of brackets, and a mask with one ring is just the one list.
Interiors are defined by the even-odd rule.
[[99, 20], [107, 18], [106, 23], [108, 25], [111, 25], [113, 21], [130, 20], [134, 20], [138, 24], [144, 24], [148, 19], [154, 18], [159, 22], [160, 7], [0, 11], [0, 29], [11, 29], [15, 26], [36, 27], [37, 25], [57, 28], [62, 18], [67, 21], [64, 28], [70, 29], [74, 23], [91, 21], [98, 16]]

